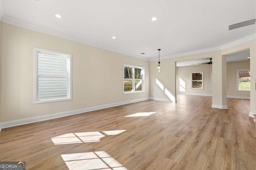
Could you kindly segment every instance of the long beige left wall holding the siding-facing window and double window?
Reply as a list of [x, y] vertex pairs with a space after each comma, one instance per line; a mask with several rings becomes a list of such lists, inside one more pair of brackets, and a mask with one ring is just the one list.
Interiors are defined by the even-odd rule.
[[[148, 61], [3, 22], [0, 28], [0, 122], [149, 97]], [[72, 54], [72, 100], [33, 104], [34, 47]], [[123, 94], [124, 63], [145, 67], [145, 92]]]

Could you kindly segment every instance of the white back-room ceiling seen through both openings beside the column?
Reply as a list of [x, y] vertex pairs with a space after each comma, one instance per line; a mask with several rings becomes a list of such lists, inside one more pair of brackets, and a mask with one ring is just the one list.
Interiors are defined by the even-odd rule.
[[[226, 55], [226, 62], [236, 62], [236, 61], [246, 61], [250, 60], [248, 59], [250, 57], [250, 50], [240, 51], [238, 53]], [[193, 65], [199, 65], [200, 63], [207, 63], [210, 59], [196, 59], [196, 60], [188, 60], [188, 61], [179, 61], [176, 63], [177, 67], [182, 66], [193, 66]], [[212, 64], [214, 64], [214, 59], [212, 59]]]

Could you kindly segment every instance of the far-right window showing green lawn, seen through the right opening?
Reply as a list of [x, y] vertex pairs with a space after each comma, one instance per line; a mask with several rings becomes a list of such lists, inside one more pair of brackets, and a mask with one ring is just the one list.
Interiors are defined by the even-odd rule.
[[250, 70], [237, 70], [236, 72], [236, 90], [237, 91], [250, 91]]

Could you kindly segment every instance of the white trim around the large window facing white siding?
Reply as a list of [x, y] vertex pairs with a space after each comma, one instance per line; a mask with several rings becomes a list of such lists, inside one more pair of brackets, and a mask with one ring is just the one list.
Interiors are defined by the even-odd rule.
[[[38, 53], [67, 57], [67, 97], [38, 100]], [[51, 76], [54, 77], [54, 76]], [[58, 77], [58, 76], [56, 76]], [[72, 100], [72, 54], [34, 47], [34, 104]]]

